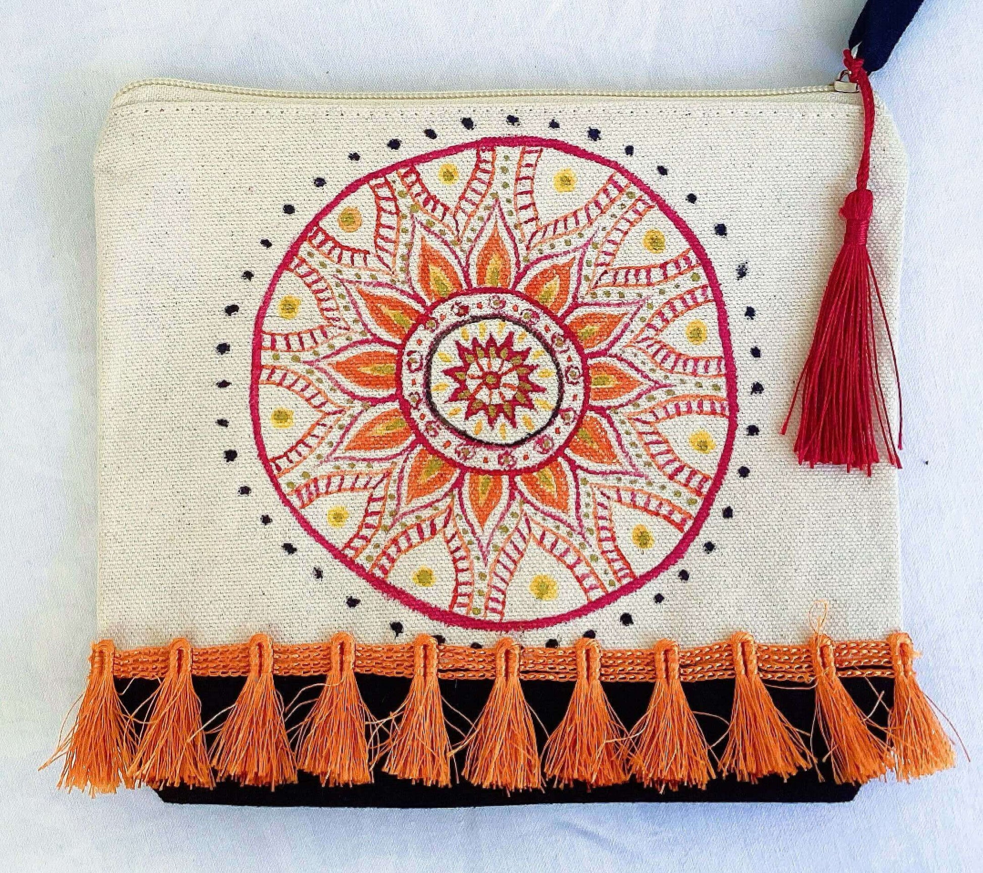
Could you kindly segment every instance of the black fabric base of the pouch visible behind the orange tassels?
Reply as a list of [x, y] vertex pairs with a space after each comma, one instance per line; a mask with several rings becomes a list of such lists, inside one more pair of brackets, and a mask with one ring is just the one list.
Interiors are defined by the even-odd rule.
[[[276, 678], [276, 686], [288, 705], [288, 728], [298, 724], [318, 695], [318, 679]], [[196, 679], [195, 688], [202, 699], [202, 720], [205, 724], [216, 713], [231, 706], [245, 682], [242, 678]], [[358, 677], [359, 687], [370, 710], [376, 716], [388, 714], [402, 703], [409, 687], [409, 680], [386, 677]], [[123, 702], [131, 711], [137, 711], [152, 693], [156, 682], [143, 680], [117, 681]], [[540, 748], [549, 732], [559, 723], [566, 711], [572, 682], [523, 682], [526, 699], [541, 721], [537, 728]], [[888, 708], [892, 703], [890, 680], [843, 681], [847, 690], [864, 712], [872, 713], [874, 721], [882, 728], [887, 724]], [[474, 720], [488, 698], [492, 682], [441, 681], [440, 689], [445, 712], [451, 723], [451, 742], [456, 742], [467, 730], [467, 722], [461, 716]], [[727, 720], [733, 697], [733, 682], [714, 680], [686, 682], [683, 685], [690, 706], [697, 714], [705, 736], [714, 744], [715, 751], [723, 751]], [[635, 724], [648, 705], [651, 685], [642, 682], [611, 682], [605, 684], [607, 698], [628, 726]], [[610, 788], [587, 789], [584, 786], [543, 791], [505, 791], [477, 788], [463, 780], [451, 788], [428, 788], [395, 779], [376, 767], [376, 781], [372, 785], [354, 788], [321, 788], [318, 779], [306, 773], [299, 774], [296, 785], [268, 789], [243, 787], [234, 782], [219, 783], [213, 790], [163, 789], [157, 791], [169, 803], [220, 803], [249, 806], [347, 806], [347, 807], [454, 807], [501, 806], [531, 803], [665, 803], [665, 802], [782, 802], [782, 803], [831, 803], [852, 800], [855, 786], [838, 786], [826, 757], [826, 746], [815, 726], [815, 695], [811, 688], [798, 684], [770, 685], [772, 696], [785, 717], [801, 731], [811, 733], [812, 750], [820, 760], [818, 769], [800, 772], [782, 782], [779, 777], [768, 777], [755, 785], [737, 782], [733, 777], [712, 780], [706, 790], [679, 789], [656, 791], [629, 782]], [[456, 710], [456, 712], [455, 712]], [[145, 715], [144, 710], [140, 711]], [[460, 713], [458, 715], [457, 713]], [[458, 729], [457, 734], [454, 728]], [[455, 759], [456, 769], [463, 766], [463, 752]]]

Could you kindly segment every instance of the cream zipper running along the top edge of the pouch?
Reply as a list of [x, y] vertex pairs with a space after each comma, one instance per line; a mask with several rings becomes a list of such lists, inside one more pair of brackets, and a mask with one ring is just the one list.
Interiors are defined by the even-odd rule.
[[[189, 82], [181, 79], [145, 79], [124, 85], [116, 93], [115, 100], [138, 88], [147, 86], [174, 87], [186, 90], [207, 91], [216, 94], [236, 94], [247, 97], [261, 97], [286, 100], [459, 100], [489, 99], [495, 97], [782, 97], [792, 94], [820, 94], [846, 90], [843, 82], [831, 84], [804, 85], [790, 88], [750, 88], [742, 90], [697, 90], [697, 91], [619, 91], [619, 90], [485, 90], [485, 91], [376, 91], [376, 92], [318, 92], [318, 91], [280, 91], [268, 88], [236, 87], [227, 84], [207, 84]], [[849, 85], [852, 82], [845, 82]], [[855, 88], [854, 88], [855, 89]]]

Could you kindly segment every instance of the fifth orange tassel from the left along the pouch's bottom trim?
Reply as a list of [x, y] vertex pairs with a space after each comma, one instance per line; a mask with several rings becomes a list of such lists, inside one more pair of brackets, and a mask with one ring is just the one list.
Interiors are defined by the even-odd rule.
[[413, 681], [406, 700], [391, 718], [383, 772], [427, 786], [450, 785], [450, 740], [443, 720], [443, 701], [436, 678], [437, 650], [433, 636], [413, 641]]

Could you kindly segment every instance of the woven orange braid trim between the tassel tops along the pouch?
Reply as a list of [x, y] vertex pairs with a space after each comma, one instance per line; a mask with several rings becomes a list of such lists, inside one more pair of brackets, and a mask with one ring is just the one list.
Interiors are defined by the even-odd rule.
[[[117, 650], [113, 675], [120, 679], [161, 679], [167, 673], [167, 646]], [[249, 643], [202, 646], [192, 650], [192, 674], [204, 677], [246, 676]], [[891, 647], [886, 640], [850, 640], [834, 645], [834, 661], [841, 678], [894, 676]], [[273, 645], [276, 676], [324, 676], [331, 669], [330, 642]], [[657, 665], [651, 649], [602, 649], [602, 682], [655, 682]], [[813, 682], [812, 655], [808, 645], [758, 646], [758, 669], [766, 682]], [[375, 676], [413, 676], [413, 643], [366, 644], [355, 648], [355, 672]], [[437, 646], [440, 679], [493, 680], [494, 649], [470, 646]], [[574, 647], [520, 649], [519, 676], [524, 680], [574, 682], [577, 652]], [[679, 650], [682, 682], [733, 679], [730, 643]]]

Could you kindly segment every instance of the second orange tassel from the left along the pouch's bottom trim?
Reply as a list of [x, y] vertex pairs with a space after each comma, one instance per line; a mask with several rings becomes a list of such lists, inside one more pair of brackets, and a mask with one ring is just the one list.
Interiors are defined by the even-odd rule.
[[202, 702], [191, 678], [191, 643], [170, 645], [167, 673], [154, 694], [153, 711], [137, 746], [129, 776], [154, 789], [187, 785], [214, 788], [204, 747]]

